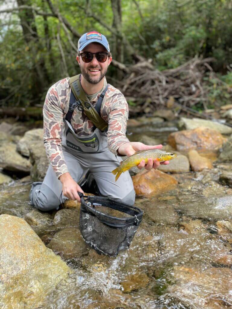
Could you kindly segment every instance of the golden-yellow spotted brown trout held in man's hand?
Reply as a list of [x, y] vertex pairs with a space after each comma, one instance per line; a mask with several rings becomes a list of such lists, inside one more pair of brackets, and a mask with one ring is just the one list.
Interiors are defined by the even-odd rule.
[[123, 160], [120, 165], [111, 172], [116, 175], [115, 181], [118, 180], [118, 177], [122, 173], [128, 171], [131, 167], [137, 166], [142, 160], [145, 160], [145, 164], [147, 164], [150, 158], [153, 160], [157, 159], [159, 162], [164, 162], [176, 158], [176, 154], [168, 152], [165, 149], [138, 150], [134, 155]]

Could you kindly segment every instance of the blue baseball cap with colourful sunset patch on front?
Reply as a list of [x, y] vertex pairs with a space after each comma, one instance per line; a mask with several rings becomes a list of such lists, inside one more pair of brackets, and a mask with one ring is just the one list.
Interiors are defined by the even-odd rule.
[[77, 45], [78, 51], [83, 50], [90, 43], [99, 43], [110, 53], [110, 46], [106, 37], [97, 31], [87, 32], [80, 37]]

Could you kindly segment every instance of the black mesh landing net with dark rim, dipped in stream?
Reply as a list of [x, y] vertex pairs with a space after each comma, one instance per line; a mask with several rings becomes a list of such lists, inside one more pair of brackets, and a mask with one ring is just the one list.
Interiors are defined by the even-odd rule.
[[142, 221], [139, 208], [99, 196], [81, 197], [80, 231], [99, 254], [117, 256], [130, 243]]

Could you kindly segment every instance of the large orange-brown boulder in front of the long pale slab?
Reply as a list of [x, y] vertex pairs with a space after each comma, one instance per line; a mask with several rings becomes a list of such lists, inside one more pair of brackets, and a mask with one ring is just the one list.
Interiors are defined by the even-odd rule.
[[168, 144], [179, 151], [196, 150], [217, 150], [225, 138], [216, 130], [199, 127], [193, 130], [173, 132], [168, 137]]

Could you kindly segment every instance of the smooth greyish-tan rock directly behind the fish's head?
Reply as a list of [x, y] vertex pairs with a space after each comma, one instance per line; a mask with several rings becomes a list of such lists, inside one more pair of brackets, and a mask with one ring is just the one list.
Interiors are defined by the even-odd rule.
[[160, 165], [159, 171], [165, 173], [184, 173], [189, 172], [189, 160], [185, 155], [177, 155], [173, 160], [170, 160], [168, 165]]

